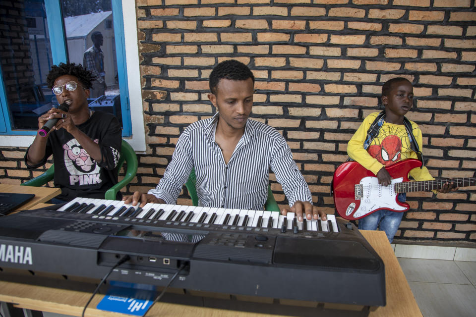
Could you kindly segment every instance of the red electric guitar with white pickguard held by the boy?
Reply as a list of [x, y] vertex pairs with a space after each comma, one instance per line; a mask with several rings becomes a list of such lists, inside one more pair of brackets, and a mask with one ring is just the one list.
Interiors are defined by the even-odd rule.
[[398, 201], [399, 193], [440, 189], [447, 181], [453, 182], [453, 187], [476, 185], [476, 177], [409, 181], [410, 170], [420, 166], [421, 161], [406, 159], [385, 167], [392, 177], [392, 183], [381, 186], [377, 177], [356, 161], [342, 163], [333, 178], [337, 213], [348, 220], [355, 220], [380, 209], [407, 211], [410, 206]]

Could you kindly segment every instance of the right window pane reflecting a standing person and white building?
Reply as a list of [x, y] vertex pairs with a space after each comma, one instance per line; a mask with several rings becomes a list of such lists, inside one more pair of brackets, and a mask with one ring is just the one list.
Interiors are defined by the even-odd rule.
[[61, 0], [61, 12], [69, 62], [82, 64], [96, 77], [89, 107], [113, 113], [122, 126], [111, 0]]

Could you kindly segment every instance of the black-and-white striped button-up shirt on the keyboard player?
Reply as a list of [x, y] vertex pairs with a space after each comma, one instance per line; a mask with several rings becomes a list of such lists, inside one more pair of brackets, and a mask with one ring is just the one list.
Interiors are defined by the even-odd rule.
[[200, 206], [263, 210], [268, 197], [269, 168], [275, 173], [290, 206], [296, 201], [311, 202], [311, 193], [291, 149], [279, 132], [248, 118], [228, 164], [215, 143], [218, 113], [190, 124], [180, 135], [157, 188], [149, 194], [175, 204], [192, 167]]

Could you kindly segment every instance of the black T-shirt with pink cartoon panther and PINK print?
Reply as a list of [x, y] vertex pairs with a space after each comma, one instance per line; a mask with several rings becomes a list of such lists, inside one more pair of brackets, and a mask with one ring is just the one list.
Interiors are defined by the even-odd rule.
[[110, 113], [94, 111], [86, 122], [77, 127], [99, 144], [103, 155], [102, 162], [93, 160], [66, 129], [60, 129], [54, 130], [48, 136], [45, 157], [40, 163], [28, 165], [26, 154], [25, 163], [28, 168], [37, 168], [44, 165], [53, 154], [54, 184], [55, 187], [61, 188], [61, 195], [57, 198], [104, 199], [106, 191], [118, 182], [118, 175], [114, 169], [119, 161], [121, 146], [119, 121]]

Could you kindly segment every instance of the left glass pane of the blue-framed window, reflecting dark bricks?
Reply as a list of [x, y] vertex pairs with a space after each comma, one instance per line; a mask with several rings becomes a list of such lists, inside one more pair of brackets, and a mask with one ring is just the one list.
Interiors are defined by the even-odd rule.
[[42, 0], [10, 1], [0, 19], [1, 76], [11, 129], [37, 130], [38, 116], [48, 111], [53, 92], [46, 75], [53, 64], [48, 21]]

